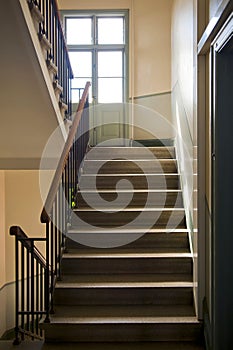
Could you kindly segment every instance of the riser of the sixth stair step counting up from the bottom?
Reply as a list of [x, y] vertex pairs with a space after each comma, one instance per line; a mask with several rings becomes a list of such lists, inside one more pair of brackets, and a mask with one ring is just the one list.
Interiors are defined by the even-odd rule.
[[[104, 202], [100, 204], [100, 200], [104, 200]], [[132, 198], [132, 200], [131, 200]], [[114, 202], [112, 202], [114, 201]], [[180, 192], [174, 193], [150, 193], [148, 196], [147, 192], [127, 192], [127, 193], [105, 193], [99, 192], [97, 193], [78, 193], [77, 196], [77, 208], [109, 208], [113, 206], [115, 208], [120, 208], [122, 205], [127, 208], [130, 207], [154, 207], [154, 208], [164, 208], [164, 207], [176, 207], [182, 208], [183, 201], [182, 195]]]

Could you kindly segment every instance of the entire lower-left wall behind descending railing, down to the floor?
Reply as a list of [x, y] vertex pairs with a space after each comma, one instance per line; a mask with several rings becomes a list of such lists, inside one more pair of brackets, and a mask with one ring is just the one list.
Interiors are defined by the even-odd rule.
[[44, 236], [41, 209], [38, 170], [0, 171], [0, 336], [14, 327], [15, 238], [9, 229], [17, 225], [30, 237]]

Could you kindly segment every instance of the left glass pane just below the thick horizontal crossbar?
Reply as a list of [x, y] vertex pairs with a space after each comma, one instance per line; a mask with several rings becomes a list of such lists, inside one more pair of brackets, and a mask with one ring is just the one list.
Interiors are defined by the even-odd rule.
[[92, 76], [92, 53], [86, 51], [69, 52], [71, 67], [75, 77]]

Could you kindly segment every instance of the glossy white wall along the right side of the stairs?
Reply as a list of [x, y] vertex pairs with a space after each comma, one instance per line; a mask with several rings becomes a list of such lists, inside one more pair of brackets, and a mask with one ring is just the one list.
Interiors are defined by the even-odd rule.
[[172, 115], [177, 131], [177, 158], [181, 173], [187, 226], [194, 259], [194, 294], [201, 317], [202, 300], [198, 297], [197, 232], [197, 59], [196, 1], [174, 0], [172, 16]]

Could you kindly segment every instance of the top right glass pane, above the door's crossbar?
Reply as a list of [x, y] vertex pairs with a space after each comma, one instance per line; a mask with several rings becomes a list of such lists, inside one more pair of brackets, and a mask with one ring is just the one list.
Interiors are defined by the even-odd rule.
[[124, 44], [123, 18], [98, 19], [98, 44]]

